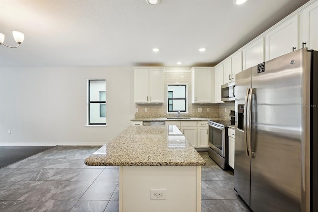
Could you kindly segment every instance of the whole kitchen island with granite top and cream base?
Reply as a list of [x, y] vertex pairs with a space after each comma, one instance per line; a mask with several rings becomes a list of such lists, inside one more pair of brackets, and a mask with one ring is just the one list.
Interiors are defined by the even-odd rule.
[[120, 212], [200, 212], [206, 162], [176, 126], [130, 126], [85, 160], [119, 166]]

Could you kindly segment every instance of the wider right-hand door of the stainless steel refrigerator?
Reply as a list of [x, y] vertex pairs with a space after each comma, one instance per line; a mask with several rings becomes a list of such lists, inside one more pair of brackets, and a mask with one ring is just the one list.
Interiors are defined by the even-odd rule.
[[255, 212], [301, 211], [301, 94], [306, 72], [301, 66], [301, 51], [296, 51], [252, 68], [250, 207]]

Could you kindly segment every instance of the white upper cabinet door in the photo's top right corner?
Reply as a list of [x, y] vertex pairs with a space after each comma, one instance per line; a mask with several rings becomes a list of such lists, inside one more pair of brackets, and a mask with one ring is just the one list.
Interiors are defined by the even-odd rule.
[[300, 14], [299, 47], [318, 51], [318, 1], [313, 1]]

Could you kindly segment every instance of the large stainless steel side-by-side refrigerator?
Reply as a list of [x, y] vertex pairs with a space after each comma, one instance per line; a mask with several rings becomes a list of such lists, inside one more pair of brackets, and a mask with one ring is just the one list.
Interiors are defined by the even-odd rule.
[[254, 212], [318, 211], [318, 52], [236, 75], [234, 189]]

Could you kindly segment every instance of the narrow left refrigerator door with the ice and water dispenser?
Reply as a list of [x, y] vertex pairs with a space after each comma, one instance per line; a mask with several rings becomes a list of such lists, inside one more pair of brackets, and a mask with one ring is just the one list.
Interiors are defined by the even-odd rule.
[[251, 71], [249, 68], [236, 75], [235, 99], [235, 155], [234, 155], [234, 189], [250, 205], [250, 161], [246, 154], [244, 139], [244, 111], [247, 89], [251, 88]]

